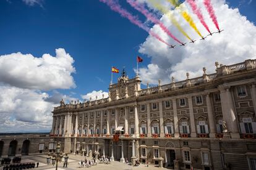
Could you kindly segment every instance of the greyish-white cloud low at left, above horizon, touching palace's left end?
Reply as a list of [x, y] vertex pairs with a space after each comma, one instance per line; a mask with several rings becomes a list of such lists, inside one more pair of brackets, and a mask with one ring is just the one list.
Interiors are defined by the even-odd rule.
[[0, 84], [0, 132], [51, 129], [54, 105], [45, 92]]

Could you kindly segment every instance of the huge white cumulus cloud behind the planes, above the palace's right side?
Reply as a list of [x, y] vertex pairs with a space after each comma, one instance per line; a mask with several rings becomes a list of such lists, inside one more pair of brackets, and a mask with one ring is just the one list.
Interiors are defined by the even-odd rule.
[[[220, 28], [224, 31], [221, 34], [213, 34], [212, 37], [207, 37], [205, 41], [198, 40], [195, 44], [188, 43], [185, 47], [179, 47], [173, 39], [163, 33], [158, 25], [151, 28], [170, 44], [176, 44], [176, 48], [169, 49], [162, 42], [148, 36], [139, 49], [139, 52], [151, 57], [151, 63], [146, 68], [140, 68], [139, 70], [143, 84], [156, 84], [158, 79], [163, 79], [164, 83], [168, 83], [171, 76], [174, 76], [177, 80], [186, 79], [186, 72], [190, 73], [190, 77], [201, 76], [203, 67], [207, 68], [208, 73], [213, 73], [215, 71], [215, 61], [229, 65], [256, 58], [256, 27], [254, 23], [249, 22], [246, 17], [242, 16], [239, 9], [231, 9], [224, 0], [213, 0], [211, 2]], [[216, 31], [202, 0], [198, 0], [197, 3], [202, 9], [210, 30]], [[201, 33], [203, 35], [208, 34], [197, 16], [192, 14], [192, 10], [186, 2], [185, 5]], [[173, 14], [191, 38], [200, 39], [177, 10], [174, 10]], [[166, 15], [161, 17], [161, 21], [181, 41], [189, 41], [177, 31]]]

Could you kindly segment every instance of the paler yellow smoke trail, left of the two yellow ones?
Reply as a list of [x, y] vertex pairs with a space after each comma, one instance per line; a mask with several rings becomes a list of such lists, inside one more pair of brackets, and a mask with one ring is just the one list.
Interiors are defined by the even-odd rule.
[[[173, 14], [171, 14], [171, 12], [164, 6], [162, 6], [161, 4], [159, 4], [158, 2], [156, 2], [155, 0], [148, 0], [150, 1], [150, 3], [156, 7], [156, 9], [160, 10], [163, 14], [166, 14], [169, 18], [169, 20], [171, 20], [171, 22], [177, 27], [177, 29], [184, 34], [184, 36], [186, 36], [188, 39], [192, 40], [189, 35], [183, 30], [183, 28], [181, 27], [181, 25], [179, 25], [179, 23], [177, 22], [177, 20], [173, 17]], [[175, 1], [175, 0], [173, 0]]]

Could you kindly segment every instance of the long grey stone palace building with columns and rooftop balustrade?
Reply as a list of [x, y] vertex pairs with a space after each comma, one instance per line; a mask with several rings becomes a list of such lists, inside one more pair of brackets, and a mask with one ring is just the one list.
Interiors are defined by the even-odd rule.
[[109, 85], [108, 98], [62, 100], [53, 110], [51, 134], [29, 149], [47, 153], [61, 142], [66, 153], [170, 169], [255, 170], [256, 60], [215, 65], [210, 75], [203, 68], [200, 77], [187, 73], [184, 81], [172, 78], [146, 89], [139, 76], [129, 79], [123, 72]]

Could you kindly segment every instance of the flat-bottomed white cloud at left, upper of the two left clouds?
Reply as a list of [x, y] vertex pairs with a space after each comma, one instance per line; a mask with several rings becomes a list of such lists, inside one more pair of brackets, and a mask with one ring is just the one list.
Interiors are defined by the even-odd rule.
[[43, 54], [37, 58], [20, 52], [1, 55], [0, 82], [27, 89], [69, 89], [75, 87], [73, 63], [64, 49], [56, 49], [56, 57]]

